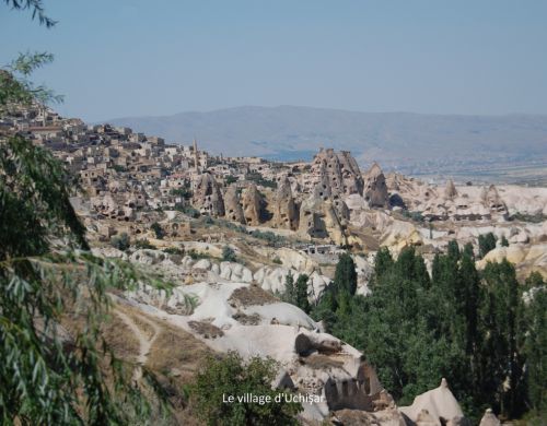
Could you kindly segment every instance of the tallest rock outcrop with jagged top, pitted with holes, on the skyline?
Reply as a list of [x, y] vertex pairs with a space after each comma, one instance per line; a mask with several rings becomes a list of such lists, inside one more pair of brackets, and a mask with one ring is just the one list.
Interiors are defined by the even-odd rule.
[[310, 188], [325, 185], [333, 194], [363, 193], [363, 179], [356, 159], [348, 151], [322, 149], [312, 162]]

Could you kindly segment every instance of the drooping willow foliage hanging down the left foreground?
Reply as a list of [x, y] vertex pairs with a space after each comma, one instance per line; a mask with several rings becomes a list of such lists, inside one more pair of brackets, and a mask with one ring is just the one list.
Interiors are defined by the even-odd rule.
[[[150, 412], [101, 324], [109, 288], [161, 283], [85, 251], [69, 181], [47, 151], [20, 137], [0, 140], [2, 424], [126, 424]], [[69, 316], [82, 326], [66, 333]]]

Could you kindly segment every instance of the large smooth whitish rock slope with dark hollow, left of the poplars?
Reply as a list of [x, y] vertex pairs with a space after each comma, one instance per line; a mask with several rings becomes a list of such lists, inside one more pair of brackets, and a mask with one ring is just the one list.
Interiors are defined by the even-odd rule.
[[[191, 312], [173, 308], [175, 298], [181, 305], [184, 294], [198, 300]], [[176, 287], [170, 295], [143, 285], [126, 296], [147, 304], [150, 315], [185, 329], [216, 351], [276, 359], [281, 365], [276, 384], [316, 395], [303, 403], [304, 418], [322, 421], [330, 411], [344, 409], [375, 413], [394, 409], [362, 353], [318, 332], [319, 324], [301, 309], [253, 285], [198, 283]], [[195, 324], [207, 324], [218, 333], [203, 335]]]

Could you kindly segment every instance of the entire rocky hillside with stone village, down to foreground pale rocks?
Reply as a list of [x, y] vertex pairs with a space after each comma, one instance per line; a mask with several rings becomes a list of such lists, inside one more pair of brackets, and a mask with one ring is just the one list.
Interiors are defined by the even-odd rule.
[[[345, 410], [368, 413], [371, 423], [337, 424], [466, 423], [442, 378], [439, 388], [397, 407], [363, 354], [278, 298], [287, 276], [309, 276], [313, 304], [333, 280], [339, 255], [349, 253], [357, 294], [368, 295], [381, 247], [394, 256], [414, 247], [431, 270], [451, 240], [478, 251], [486, 234], [497, 242], [477, 268], [507, 258], [522, 277], [547, 276], [545, 188], [456, 185], [449, 177], [433, 186], [384, 174], [373, 162], [362, 171], [351, 153], [329, 147], [312, 162], [214, 156], [196, 140], [167, 143], [39, 106], [2, 117], [0, 134], [14, 132], [50, 150], [70, 171], [71, 202], [96, 256], [178, 284], [171, 294], [143, 283], [116, 296], [117, 327], [138, 336], [133, 355], [141, 364], [182, 380], [195, 365], [173, 354], [191, 345], [200, 354], [270, 356], [282, 365], [276, 386], [322, 397], [304, 404], [309, 424], [333, 411], [349, 415]], [[188, 294], [196, 306], [185, 305]], [[166, 330], [183, 336], [171, 341], [168, 355], [160, 346]], [[497, 424], [491, 412], [485, 419]]]

